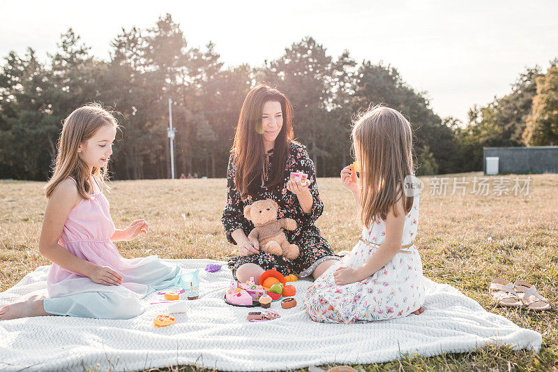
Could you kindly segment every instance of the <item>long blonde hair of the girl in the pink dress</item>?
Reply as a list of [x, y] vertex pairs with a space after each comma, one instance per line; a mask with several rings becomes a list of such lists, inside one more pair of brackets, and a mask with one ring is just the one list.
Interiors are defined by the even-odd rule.
[[112, 112], [105, 110], [98, 103], [89, 103], [73, 110], [64, 120], [62, 133], [56, 146], [56, 164], [52, 178], [45, 186], [45, 194], [50, 198], [54, 188], [71, 176], [77, 184], [77, 192], [83, 199], [89, 200], [89, 193], [93, 191], [90, 184], [91, 174], [95, 175], [101, 183], [101, 188], [107, 188], [105, 181], [108, 179], [108, 163], [102, 168], [93, 167], [89, 174], [89, 167], [77, 154], [77, 148], [86, 140], [93, 137], [102, 126], [118, 128], [118, 122]]

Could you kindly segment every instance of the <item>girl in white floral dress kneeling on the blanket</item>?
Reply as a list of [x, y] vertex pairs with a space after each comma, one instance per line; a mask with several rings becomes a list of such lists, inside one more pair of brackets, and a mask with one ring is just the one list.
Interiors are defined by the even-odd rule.
[[304, 306], [317, 322], [418, 315], [425, 290], [414, 246], [418, 192], [411, 126], [400, 112], [374, 107], [356, 121], [352, 138], [361, 177], [349, 165], [341, 180], [353, 193], [363, 232], [351, 253], [310, 286]]

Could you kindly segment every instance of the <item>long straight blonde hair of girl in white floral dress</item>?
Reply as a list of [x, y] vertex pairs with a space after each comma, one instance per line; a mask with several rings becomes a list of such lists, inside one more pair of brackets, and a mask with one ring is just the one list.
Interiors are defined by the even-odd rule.
[[385, 220], [403, 198], [405, 213], [413, 197], [404, 193], [405, 177], [413, 174], [412, 129], [403, 115], [389, 107], [375, 106], [354, 121], [354, 151], [361, 168], [361, 223], [370, 226]]

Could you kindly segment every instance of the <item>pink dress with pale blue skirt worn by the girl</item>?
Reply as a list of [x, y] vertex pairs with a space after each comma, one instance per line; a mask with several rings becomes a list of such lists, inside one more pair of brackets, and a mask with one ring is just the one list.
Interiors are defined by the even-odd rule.
[[167, 288], [180, 267], [158, 259], [123, 258], [110, 240], [114, 223], [110, 204], [102, 192], [91, 194], [70, 210], [59, 244], [78, 258], [108, 266], [123, 277], [121, 285], [94, 283], [87, 276], [52, 263], [47, 278], [47, 313], [86, 318], [133, 318], [143, 311], [142, 297]]

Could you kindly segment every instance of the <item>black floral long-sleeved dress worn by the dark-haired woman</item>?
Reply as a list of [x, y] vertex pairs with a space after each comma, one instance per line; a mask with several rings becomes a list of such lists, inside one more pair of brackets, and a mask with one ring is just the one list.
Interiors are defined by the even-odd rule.
[[[273, 163], [273, 150], [268, 152], [269, 164], [266, 166], [266, 172], [269, 172]], [[303, 172], [308, 174], [310, 180], [310, 193], [312, 194], [312, 210], [306, 214], [302, 211], [299, 199], [296, 195], [287, 190], [287, 181], [290, 172]], [[223, 226], [227, 239], [236, 244], [232, 239], [231, 233], [241, 228], [248, 236], [254, 225], [252, 222], [244, 218], [244, 206], [252, 204], [256, 200], [273, 199], [279, 204], [278, 218], [293, 218], [296, 221], [296, 230], [287, 231], [285, 235], [292, 244], [296, 244], [300, 248], [300, 255], [295, 260], [288, 260], [280, 255], [272, 255], [271, 253], [261, 252], [257, 255], [248, 255], [246, 257], [229, 258], [228, 264], [232, 269], [232, 274], [236, 278], [236, 269], [248, 262], [259, 265], [264, 270], [276, 268], [281, 274], [295, 274], [300, 278], [309, 276], [312, 271], [324, 260], [339, 260], [340, 257], [333, 253], [328, 242], [314, 225], [315, 221], [324, 211], [324, 203], [319, 198], [318, 188], [316, 185], [316, 176], [314, 163], [310, 160], [306, 147], [296, 142], [290, 144], [290, 154], [287, 156], [287, 164], [285, 167], [285, 183], [280, 193], [273, 193], [265, 186], [261, 186], [256, 198], [248, 196], [246, 200], [234, 187], [235, 168], [232, 164], [232, 156], [229, 159], [229, 169], [227, 170], [227, 206], [223, 210]], [[265, 175], [266, 176], [266, 175]], [[281, 196], [279, 197], [278, 194]]]

